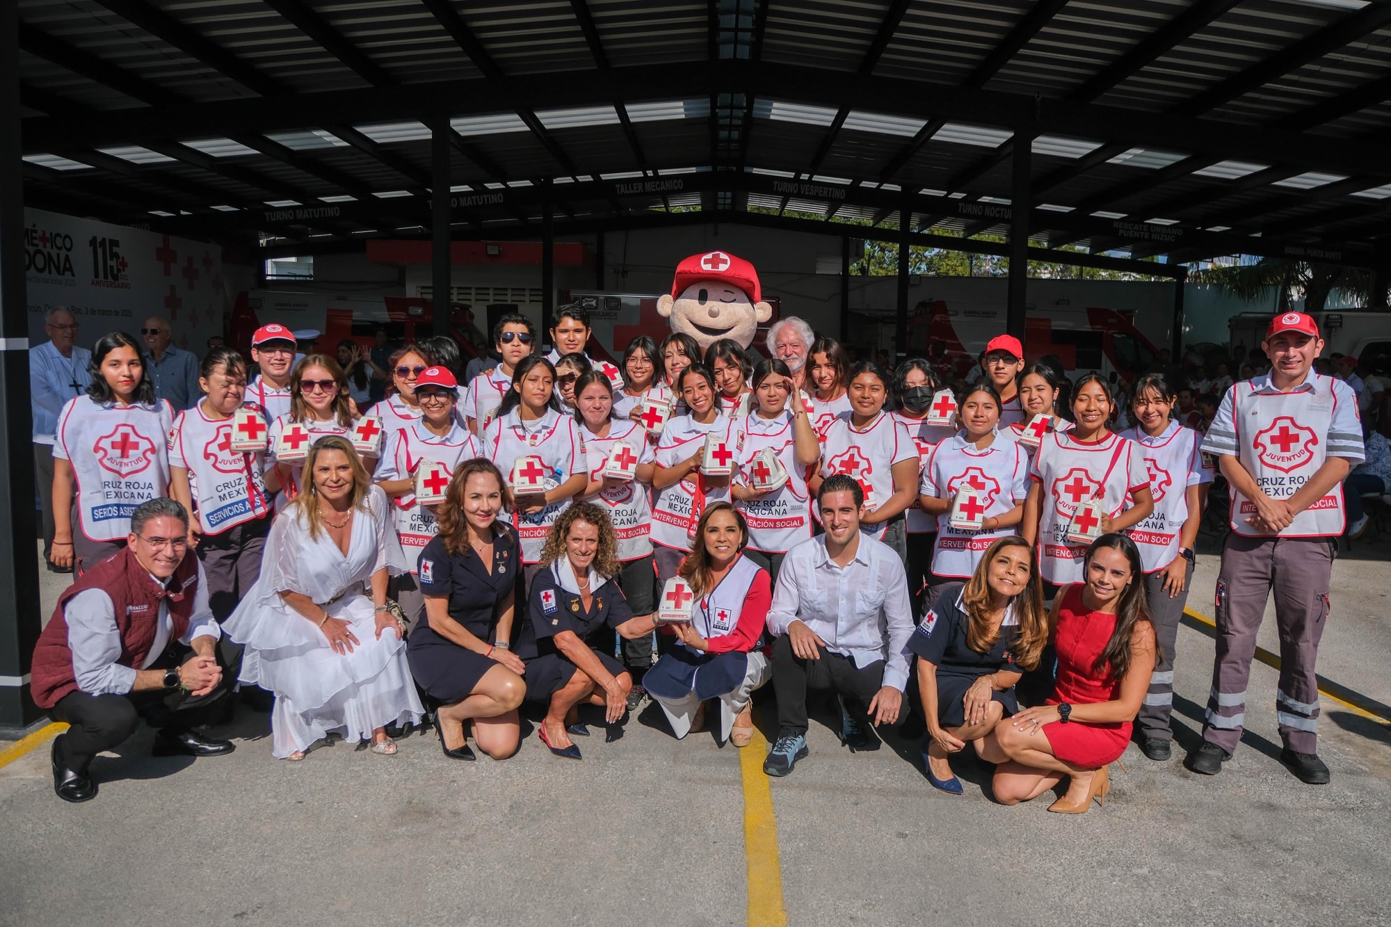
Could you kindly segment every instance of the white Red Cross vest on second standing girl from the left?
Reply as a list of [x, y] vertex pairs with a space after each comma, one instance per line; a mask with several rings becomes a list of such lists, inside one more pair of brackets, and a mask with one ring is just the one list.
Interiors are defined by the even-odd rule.
[[[255, 402], [245, 408], [256, 409], [253, 423], [264, 423]], [[270, 512], [262, 462], [256, 454], [232, 450], [232, 419], [210, 419], [199, 402], [179, 412], [170, 431], [170, 466], [188, 470], [204, 534], [223, 534]]]

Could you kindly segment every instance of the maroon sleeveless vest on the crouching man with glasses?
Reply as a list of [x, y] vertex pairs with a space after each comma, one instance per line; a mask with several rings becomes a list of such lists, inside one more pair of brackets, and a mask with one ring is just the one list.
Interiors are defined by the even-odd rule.
[[72, 651], [68, 650], [68, 621], [63, 608], [68, 600], [86, 589], [100, 589], [115, 605], [115, 628], [121, 632], [122, 667], [139, 670], [154, 643], [159, 628], [160, 601], [167, 601], [174, 625], [170, 640], [188, 633], [188, 619], [198, 592], [198, 555], [189, 551], [174, 571], [168, 592], [150, 579], [131, 548], [124, 548], [99, 562], [58, 596], [53, 617], [33, 647], [29, 692], [40, 708], [51, 708], [58, 699], [78, 689], [72, 671]]

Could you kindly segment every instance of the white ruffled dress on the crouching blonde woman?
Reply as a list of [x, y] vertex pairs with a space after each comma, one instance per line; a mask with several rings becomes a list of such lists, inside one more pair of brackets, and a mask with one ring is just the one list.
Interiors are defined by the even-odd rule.
[[[387, 494], [373, 486], [367, 509], [353, 515], [348, 555], [323, 532], [319, 540], [298, 505], [275, 518], [260, 579], [224, 622], [223, 631], [245, 644], [241, 681], [275, 693], [271, 753], [287, 757], [314, 740], [339, 734], [370, 739], [376, 728], [419, 721], [406, 644], [388, 628], [377, 639], [371, 575], [385, 566], [408, 569], [396, 540]], [[331, 617], [348, 621], [360, 642], [349, 654], [334, 653], [312, 621], [285, 604], [280, 592], [309, 596]]]

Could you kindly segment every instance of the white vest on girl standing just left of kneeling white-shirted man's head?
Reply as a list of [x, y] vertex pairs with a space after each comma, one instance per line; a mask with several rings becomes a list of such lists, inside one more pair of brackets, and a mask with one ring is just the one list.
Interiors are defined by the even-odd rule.
[[787, 470], [787, 482], [782, 489], [762, 498], [736, 502], [748, 522], [748, 547], [766, 554], [787, 553], [794, 544], [811, 537], [807, 468], [797, 464], [791, 413], [780, 412], [775, 419], [764, 419], [755, 412], [746, 416], [740, 427], [744, 431], [744, 450], [739, 452], [743, 483], [750, 482], [751, 466], [762, 466], [761, 462], [754, 462], [754, 455], [764, 448], [772, 450]]

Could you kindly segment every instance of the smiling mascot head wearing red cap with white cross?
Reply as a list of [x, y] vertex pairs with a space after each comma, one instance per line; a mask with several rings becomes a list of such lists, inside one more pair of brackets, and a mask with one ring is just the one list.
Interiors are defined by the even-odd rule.
[[721, 338], [733, 338], [747, 351], [758, 326], [773, 315], [762, 295], [751, 263], [711, 251], [676, 264], [672, 292], [657, 301], [657, 312], [672, 331], [696, 338], [702, 354]]

